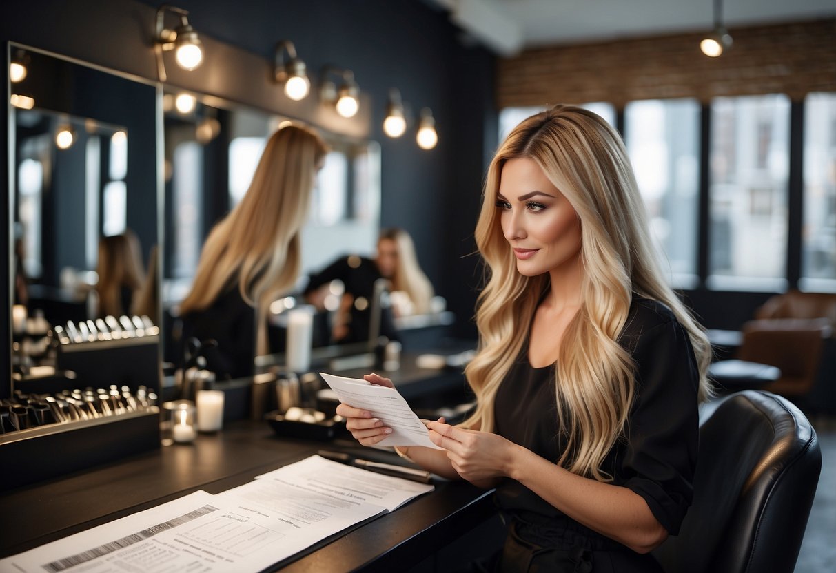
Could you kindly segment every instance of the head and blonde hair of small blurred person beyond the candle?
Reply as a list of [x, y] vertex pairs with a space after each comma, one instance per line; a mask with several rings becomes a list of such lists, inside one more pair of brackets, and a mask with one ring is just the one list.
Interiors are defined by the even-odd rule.
[[399, 315], [430, 312], [432, 283], [418, 264], [415, 244], [407, 231], [398, 227], [380, 231], [375, 263], [380, 275], [389, 279], [390, 291], [403, 292], [408, 298], [409, 304], [405, 306], [410, 312], [400, 312]]

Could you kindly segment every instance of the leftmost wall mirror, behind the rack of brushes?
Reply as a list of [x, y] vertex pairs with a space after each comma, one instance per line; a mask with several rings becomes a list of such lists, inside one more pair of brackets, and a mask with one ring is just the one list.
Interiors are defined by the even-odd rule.
[[[44, 332], [108, 342], [84, 346], [100, 349], [120, 346], [113, 332], [127, 339], [130, 328], [135, 346], [132, 317], [145, 317], [143, 333], [160, 322], [158, 87], [32, 48], [10, 53], [20, 64], [8, 122], [12, 358], [26, 376], [62, 366], [66, 354], [56, 357]], [[153, 361], [156, 337], [144, 342]], [[157, 372], [152, 364], [133, 381], [156, 386]]]

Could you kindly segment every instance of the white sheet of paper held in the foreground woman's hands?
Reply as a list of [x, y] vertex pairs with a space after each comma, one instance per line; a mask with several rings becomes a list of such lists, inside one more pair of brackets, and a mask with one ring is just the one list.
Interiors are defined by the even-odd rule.
[[344, 378], [323, 372], [319, 375], [334, 390], [340, 402], [369, 410], [372, 416], [392, 428], [392, 433], [378, 442], [379, 445], [441, 449], [431, 442], [430, 431], [395, 388], [371, 384], [359, 378]]

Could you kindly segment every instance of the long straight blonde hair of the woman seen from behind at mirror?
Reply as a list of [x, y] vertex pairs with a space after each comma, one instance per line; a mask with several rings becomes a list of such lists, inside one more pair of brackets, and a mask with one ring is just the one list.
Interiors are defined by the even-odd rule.
[[237, 282], [241, 297], [259, 312], [262, 338], [267, 308], [299, 274], [299, 230], [327, 152], [318, 134], [299, 125], [268, 139], [247, 193], [206, 239], [181, 315], [211, 306]]

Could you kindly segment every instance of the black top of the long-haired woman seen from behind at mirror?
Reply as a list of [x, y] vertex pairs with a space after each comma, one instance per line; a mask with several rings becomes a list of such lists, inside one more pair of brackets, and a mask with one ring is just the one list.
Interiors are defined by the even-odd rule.
[[216, 373], [217, 379], [252, 376], [256, 355], [255, 309], [244, 302], [237, 282], [210, 307], [189, 312], [182, 320], [181, 361], [190, 338], [200, 342], [214, 338], [217, 347], [203, 352], [206, 368]]

